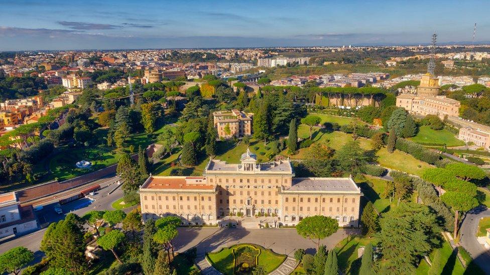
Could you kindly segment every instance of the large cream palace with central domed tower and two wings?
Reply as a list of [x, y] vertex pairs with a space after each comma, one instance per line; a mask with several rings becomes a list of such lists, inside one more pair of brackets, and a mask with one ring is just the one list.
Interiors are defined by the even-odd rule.
[[144, 220], [176, 215], [182, 224], [202, 225], [268, 216], [285, 226], [313, 215], [358, 226], [362, 196], [351, 177], [295, 177], [289, 160], [259, 164], [249, 149], [239, 164], [210, 159], [199, 177], [150, 175], [139, 194]]

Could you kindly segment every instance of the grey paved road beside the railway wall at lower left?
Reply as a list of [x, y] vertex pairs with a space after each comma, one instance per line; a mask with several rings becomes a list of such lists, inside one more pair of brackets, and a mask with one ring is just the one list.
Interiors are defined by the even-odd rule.
[[[112, 194], [108, 195], [108, 192], [113, 189], [115, 185], [110, 185], [108, 188], [104, 188], [100, 191], [97, 191], [96, 194], [93, 196], [95, 201], [83, 208], [73, 210], [72, 212], [77, 214], [77, 215], [83, 215], [84, 213], [90, 211], [90, 210], [107, 210], [107, 209], [112, 209], [111, 204], [115, 200], [119, 199], [122, 197], [122, 190], [121, 188], [117, 188], [116, 191], [114, 191]], [[78, 206], [80, 204], [80, 200], [76, 200], [70, 203], [67, 203], [62, 206], [63, 208], [63, 213], [69, 213], [73, 208]], [[40, 212], [37, 212], [38, 214], [38, 219], [39, 223], [44, 223], [45, 221], [47, 222], [54, 222], [60, 219], [63, 219], [66, 214], [63, 215], [58, 215], [54, 212], [54, 204], [56, 202], [52, 202], [51, 204], [45, 205], [43, 210]], [[126, 212], [129, 212], [131, 208], [125, 209]], [[8, 240], [3, 240], [0, 241], [0, 253], [3, 253], [11, 248], [17, 247], [17, 246], [25, 246], [28, 249], [34, 251], [35, 253], [35, 260], [33, 263], [39, 262], [41, 258], [44, 256], [44, 253], [39, 250], [39, 247], [41, 245], [41, 240], [43, 239], [44, 232], [46, 231], [46, 228], [32, 232], [28, 235], [17, 237], [14, 239], [8, 239]]]

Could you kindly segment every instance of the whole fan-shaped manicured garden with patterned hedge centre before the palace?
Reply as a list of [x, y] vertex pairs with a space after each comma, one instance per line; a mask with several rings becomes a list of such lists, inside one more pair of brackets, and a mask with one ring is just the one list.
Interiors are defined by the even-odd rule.
[[256, 244], [235, 244], [208, 253], [206, 257], [223, 274], [250, 274], [257, 265], [262, 265], [270, 273], [286, 259], [286, 255]]

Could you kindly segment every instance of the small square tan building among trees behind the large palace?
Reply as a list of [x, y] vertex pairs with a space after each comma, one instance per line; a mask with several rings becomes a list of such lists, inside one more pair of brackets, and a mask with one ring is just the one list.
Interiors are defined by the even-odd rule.
[[231, 111], [213, 112], [214, 128], [218, 137], [231, 138], [252, 135], [252, 118], [254, 114], [233, 109]]

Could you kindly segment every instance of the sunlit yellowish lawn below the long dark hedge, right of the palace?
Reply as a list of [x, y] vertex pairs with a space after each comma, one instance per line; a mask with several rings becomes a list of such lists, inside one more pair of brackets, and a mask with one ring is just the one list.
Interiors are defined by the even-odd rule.
[[378, 157], [378, 163], [383, 167], [399, 170], [417, 176], [422, 176], [425, 169], [432, 167], [427, 162], [418, 160], [412, 155], [409, 155], [400, 150], [395, 150], [393, 153], [390, 154], [388, 153], [386, 148], [381, 148], [376, 153], [376, 156]]

